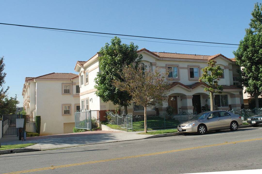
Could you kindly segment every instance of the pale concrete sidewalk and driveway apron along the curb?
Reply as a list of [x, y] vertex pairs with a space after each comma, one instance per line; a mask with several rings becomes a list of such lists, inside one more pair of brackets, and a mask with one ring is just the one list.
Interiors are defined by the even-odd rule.
[[[250, 127], [250, 125], [239, 126], [239, 129], [244, 127]], [[105, 129], [103, 129], [102, 131], [87, 131], [87, 132], [78, 132], [72, 134], [27, 137], [25, 141], [19, 140], [19, 137], [16, 135], [10, 135], [10, 136], [4, 136], [0, 139], [2, 146], [10, 145], [10, 144], [26, 144], [26, 143], [36, 143], [36, 144], [25, 148], [0, 150], [0, 155], [19, 153], [19, 152], [39, 151], [45, 149], [74, 147], [74, 146], [82, 146], [82, 145], [90, 145], [90, 144], [100, 144], [100, 143], [110, 143], [110, 142], [118, 142], [118, 141], [139, 140], [145, 138], [182, 135], [182, 133], [142, 135], [142, 134], [138, 134], [140, 132], [144, 132], [144, 131], [120, 132], [116, 130], [105, 131]]]

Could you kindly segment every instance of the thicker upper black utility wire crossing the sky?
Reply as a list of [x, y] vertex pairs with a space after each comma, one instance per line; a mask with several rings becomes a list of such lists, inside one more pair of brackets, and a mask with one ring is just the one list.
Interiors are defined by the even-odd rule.
[[[48, 28], [48, 27], [36, 27], [36, 26], [17, 25], [17, 24], [5, 24], [5, 23], [0, 23], [0, 24], [2, 24], [2, 25], [21, 26], [21, 27], [31, 27], [31, 28], [44, 28], [44, 29], [52, 29], [52, 30], [85, 32], [85, 33], [110, 34], [110, 35], [130, 36], [130, 37], [140, 37], [140, 38], [150, 38], [150, 39], [177, 40], [177, 41], [185, 41], [185, 42], [199, 42], [199, 43], [224, 44], [224, 45], [239, 45], [239, 44], [216, 43], [216, 42], [202, 42], [202, 41], [194, 41], [194, 40], [180, 40], [180, 39], [168, 39], [168, 38], [157, 38], [157, 37], [146, 37], [146, 36], [133, 36], [133, 35], [126, 35], [126, 34], [113, 34], [113, 33], [101, 33], [101, 32], [91, 32], [91, 31], [80, 31], [80, 30], [68, 30], [68, 29], [59, 29], [59, 28]], [[256, 46], [256, 45], [241, 45], [241, 46], [260, 47], [260, 46]]]

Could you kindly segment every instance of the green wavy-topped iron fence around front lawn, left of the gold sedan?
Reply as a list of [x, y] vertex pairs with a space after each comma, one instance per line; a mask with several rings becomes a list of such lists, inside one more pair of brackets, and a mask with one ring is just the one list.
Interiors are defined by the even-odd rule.
[[[162, 115], [146, 115], [147, 129], [166, 129], [174, 128], [183, 121], [192, 119], [195, 113], [179, 113], [179, 114], [162, 114]], [[144, 129], [144, 115], [120, 115], [113, 112], [106, 112], [108, 123], [117, 125], [124, 129]]]

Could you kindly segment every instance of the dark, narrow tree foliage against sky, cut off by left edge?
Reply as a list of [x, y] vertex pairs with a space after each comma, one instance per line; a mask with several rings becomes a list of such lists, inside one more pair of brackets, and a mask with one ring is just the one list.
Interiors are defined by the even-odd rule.
[[4, 56], [0, 57], [0, 106], [2, 105], [2, 102], [4, 98], [7, 96], [7, 90], [9, 89], [9, 86], [7, 86], [6, 89], [4, 89], [4, 84], [6, 83], [4, 78], [6, 77], [6, 73], [4, 73], [4, 67], [6, 65], [4, 64]]

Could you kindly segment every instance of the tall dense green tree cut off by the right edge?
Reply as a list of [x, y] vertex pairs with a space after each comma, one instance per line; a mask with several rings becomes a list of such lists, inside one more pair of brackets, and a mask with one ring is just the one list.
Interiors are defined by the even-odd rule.
[[246, 87], [245, 93], [255, 98], [255, 106], [259, 107], [258, 97], [262, 94], [262, 7], [255, 3], [253, 18], [249, 28], [245, 29], [244, 39], [236, 51], [233, 51], [239, 75], [239, 82]]

